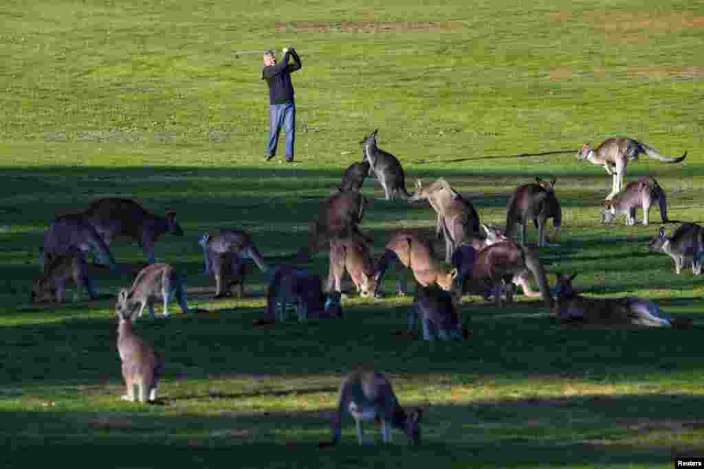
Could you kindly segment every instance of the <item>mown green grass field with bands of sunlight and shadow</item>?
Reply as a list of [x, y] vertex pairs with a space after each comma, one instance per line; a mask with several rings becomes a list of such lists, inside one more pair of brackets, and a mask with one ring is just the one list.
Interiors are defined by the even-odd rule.
[[[5, 467], [655, 468], [704, 456], [703, 281], [648, 252], [659, 224], [603, 226], [610, 176], [575, 159], [585, 141], [618, 135], [689, 150], [679, 165], [641, 157], [626, 179], [653, 174], [672, 219], [704, 221], [704, 2], [405, 3], [0, 4]], [[294, 166], [263, 162], [261, 58], [235, 53], [283, 46], [303, 60]], [[648, 297], [697, 327], [567, 330], [541, 302], [497, 309], [465, 297], [470, 341], [404, 340], [394, 332], [412, 299], [391, 296], [393, 275], [386, 298], [344, 300], [342, 321], [253, 328], [259, 273], [245, 299], [213, 300], [199, 236], [246, 229], [268, 257], [296, 252], [376, 128], [409, 190], [444, 176], [489, 224], [503, 224], [515, 186], [555, 176], [562, 243], [540, 253], [551, 271], [579, 272], [589, 295]], [[397, 229], [432, 233], [428, 205], [379, 200], [373, 179], [364, 191], [375, 252]], [[191, 306], [208, 310], [137, 323], [165, 356], [161, 406], [119, 399], [114, 300], [28, 304], [49, 221], [104, 196], [177, 210], [186, 236], [166, 236], [156, 257], [187, 275]], [[118, 262], [143, 260], [133, 243], [113, 246]], [[327, 274], [327, 255], [308, 268]], [[115, 295], [130, 279], [97, 283]], [[342, 376], [360, 365], [425, 409], [422, 446], [396, 433], [362, 448], [347, 419], [342, 444], [317, 449]]]

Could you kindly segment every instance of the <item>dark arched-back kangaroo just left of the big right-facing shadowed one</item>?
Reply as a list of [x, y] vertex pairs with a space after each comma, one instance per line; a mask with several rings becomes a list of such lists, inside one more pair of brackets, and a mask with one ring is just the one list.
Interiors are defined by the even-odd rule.
[[39, 250], [39, 265], [42, 271], [48, 264], [45, 262], [45, 256], [65, 255], [73, 248], [85, 253], [92, 252], [99, 262], [109, 265], [111, 270], [118, 269], [108, 245], [93, 225], [81, 214], [68, 214], [51, 221], [49, 229], [44, 233], [44, 248]]

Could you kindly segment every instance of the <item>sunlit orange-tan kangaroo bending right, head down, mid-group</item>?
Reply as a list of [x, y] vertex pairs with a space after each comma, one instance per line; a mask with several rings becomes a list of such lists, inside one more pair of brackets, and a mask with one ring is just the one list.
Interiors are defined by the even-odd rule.
[[[413, 271], [415, 280], [422, 286], [436, 283], [443, 290], [452, 292], [455, 298], [460, 293], [458, 284], [455, 282], [458, 270], [444, 269], [436, 259], [432, 245], [415, 231], [398, 231], [391, 237], [389, 243], [386, 243], [384, 255], [377, 262], [377, 288], [382, 285], [382, 278], [389, 262], [403, 264]], [[397, 288], [398, 295], [406, 295], [406, 290], [406, 275], [401, 274]]]

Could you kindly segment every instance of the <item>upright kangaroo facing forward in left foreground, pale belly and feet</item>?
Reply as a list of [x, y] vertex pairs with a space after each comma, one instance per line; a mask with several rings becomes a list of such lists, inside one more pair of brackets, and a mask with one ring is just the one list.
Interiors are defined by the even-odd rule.
[[[115, 311], [119, 318], [118, 352], [122, 360], [122, 378], [125, 379], [127, 393], [122, 400], [140, 402], [156, 401], [156, 389], [163, 373], [163, 362], [154, 352], [149, 342], [134, 333], [132, 314], [134, 310], [120, 308], [129, 302], [127, 290], [120, 292], [120, 302]], [[136, 389], [135, 389], [136, 388]]]

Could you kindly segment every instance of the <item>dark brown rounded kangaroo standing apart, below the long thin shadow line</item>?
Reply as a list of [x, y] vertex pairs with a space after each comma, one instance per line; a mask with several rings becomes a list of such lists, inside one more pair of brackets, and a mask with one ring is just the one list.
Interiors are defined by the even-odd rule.
[[562, 229], [562, 207], [555, 196], [555, 179], [545, 181], [536, 177], [536, 184], [518, 186], [506, 207], [505, 233], [509, 238], [515, 238], [516, 225], [522, 226], [520, 243], [526, 241], [526, 231], [529, 219], [538, 229], [538, 247], [548, 245], [545, 233], [545, 222], [553, 219], [555, 238], [557, 240]]

